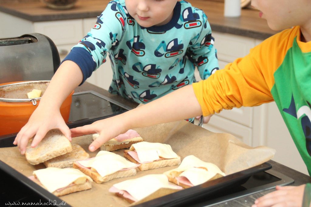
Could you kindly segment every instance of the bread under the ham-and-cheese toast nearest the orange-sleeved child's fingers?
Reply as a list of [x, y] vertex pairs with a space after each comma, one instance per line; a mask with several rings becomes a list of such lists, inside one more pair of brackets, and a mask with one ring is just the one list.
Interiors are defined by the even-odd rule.
[[120, 170], [120, 171], [117, 171], [117, 172], [112, 173], [110, 175], [106, 175], [104, 177], [100, 176], [99, 173], [94, 172], [92, 170], [81, 168], [76, 162], [73, 163], [73, 168], [78, 169], [82, 173], [90, 176], [93, 179], [93, 181], [95, 181], [98, 184], [103, 183], [103, 182], [108, 182], [109, 180], [112, 180], [114, 178], [123, 178], [123, 177], [136, 175], [136, 169], [135, 168], [128, 169], [128, 170]]

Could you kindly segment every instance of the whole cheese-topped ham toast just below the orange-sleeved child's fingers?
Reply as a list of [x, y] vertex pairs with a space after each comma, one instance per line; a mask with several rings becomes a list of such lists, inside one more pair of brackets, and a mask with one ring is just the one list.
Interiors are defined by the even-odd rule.
[[113, 152], [99, 151], [96, 157], [73, 163], [73, 168], [90, 176], [96, 183], [103, 183], [114, 178], [136, 175], [136, 167], [124, 157]]

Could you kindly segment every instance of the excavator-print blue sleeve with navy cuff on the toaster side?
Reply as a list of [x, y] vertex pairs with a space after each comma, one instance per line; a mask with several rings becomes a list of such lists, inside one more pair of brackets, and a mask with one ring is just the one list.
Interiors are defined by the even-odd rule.
[[91, 31], [72, 48], [63, 61], [71, 60], [79, 65], [83, 83], [93, 71], [106, 62], [107, 52], [118, 47], [125, 28], [126, 15], [122, 6], [117, 2], [110, 2], [97, 17]]

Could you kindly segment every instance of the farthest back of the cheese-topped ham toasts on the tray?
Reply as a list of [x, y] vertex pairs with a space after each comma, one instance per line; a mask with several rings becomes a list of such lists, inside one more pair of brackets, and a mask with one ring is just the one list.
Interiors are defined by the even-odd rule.
[[140, 164], [141, 171], [180, 164], [180, 156], [170, 145], [162, 143], [138, 142], [124, 151], [124, 157]]

